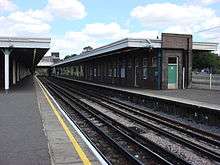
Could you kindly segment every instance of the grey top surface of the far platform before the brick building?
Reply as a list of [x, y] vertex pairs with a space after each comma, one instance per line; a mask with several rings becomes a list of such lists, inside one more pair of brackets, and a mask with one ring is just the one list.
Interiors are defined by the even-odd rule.
[[73, 80], [66, 77], [58, 77], [77, 81], [81, 83], [97, 85], [114, 90], [125, 91], [150, 97], [156, 97], [164, 100], [172, 100], [184, 104], [195, 105], [198, 107], [220, 110], [220, 91], [211, 91], [203, 89], [178, 89], [178, 90], [150, 90], [141, 88], [116, 87], [110, 85], [96, 84], [87, 81]]

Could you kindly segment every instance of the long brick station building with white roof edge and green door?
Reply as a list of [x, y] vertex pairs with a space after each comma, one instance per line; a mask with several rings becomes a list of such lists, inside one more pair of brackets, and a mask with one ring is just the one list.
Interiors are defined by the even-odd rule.
[[126, 38], [52, 66], [52, 74], [127, 87], [191, 87], [192, 54], [217, 43], [192, 42], [192, 35], [163, 33], [161, 39]]

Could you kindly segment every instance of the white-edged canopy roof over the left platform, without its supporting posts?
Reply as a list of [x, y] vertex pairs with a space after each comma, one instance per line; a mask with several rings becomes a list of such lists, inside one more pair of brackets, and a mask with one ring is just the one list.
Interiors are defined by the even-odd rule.
[[0, 49], [10, 50], [10, 56], [14, 56], [27, 67], [33, 67], [49, 50], [50, 41], [50, 38], [0, 37]]

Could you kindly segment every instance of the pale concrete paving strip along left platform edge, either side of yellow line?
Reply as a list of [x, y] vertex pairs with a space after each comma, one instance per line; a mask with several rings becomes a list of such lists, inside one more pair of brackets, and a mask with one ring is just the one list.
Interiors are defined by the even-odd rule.
[[[52, 164], [55, 165], [69, 165], [69, 164], [83, 164], [77, 152], [75, 151], [72, 143], [64, 132], [63, 127], [60, 125], [57, 117], [51, 110], [45, 95], [43, 94], [39, 84], [35, 81], [36, 93], [38, 98], [39, 110], [42, 116], [45, 133], [49, 141], [49, 150], [52, 158]], [[56, 107], [56, 105], [54, 104]], [[56, 107], [58, 110], [58, 108]], [[60, 113], [62, 116], [62, 114]], [[80, 138], [77, 132], [62, 116], [74, 138], [77, 140], [88, 159], [92, 164], [100, 164], [85, 142]]]

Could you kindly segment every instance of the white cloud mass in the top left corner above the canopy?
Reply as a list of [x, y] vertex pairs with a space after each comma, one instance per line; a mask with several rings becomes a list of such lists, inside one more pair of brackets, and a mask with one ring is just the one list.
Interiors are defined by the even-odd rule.
[[81, 19], [86, 11], [78, 0], [48, 0], [48, 4], [38, 10], [17, 10], [10, 0], [0, 0], [1, 11], [10, 11], [0, 16], [0, 35], [2, 36], [48, 36], [55, 17]]

